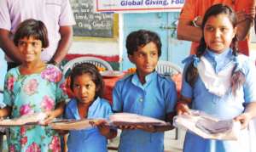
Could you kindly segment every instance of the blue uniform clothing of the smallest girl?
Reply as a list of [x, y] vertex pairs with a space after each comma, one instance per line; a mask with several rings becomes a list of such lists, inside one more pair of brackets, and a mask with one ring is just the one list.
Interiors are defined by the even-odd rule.
[[[112, 114], [111, 106], [105, 99], [97, 98], [88, 110], [88, 119], [107, 118]], [[80, 120], [78, 101], [71, 99], [65, 110], [65, 118]], [[70, 131], [67, 139], [69, 152], [107, 152], [107, 138], [102, 136], [97, 127]]]

